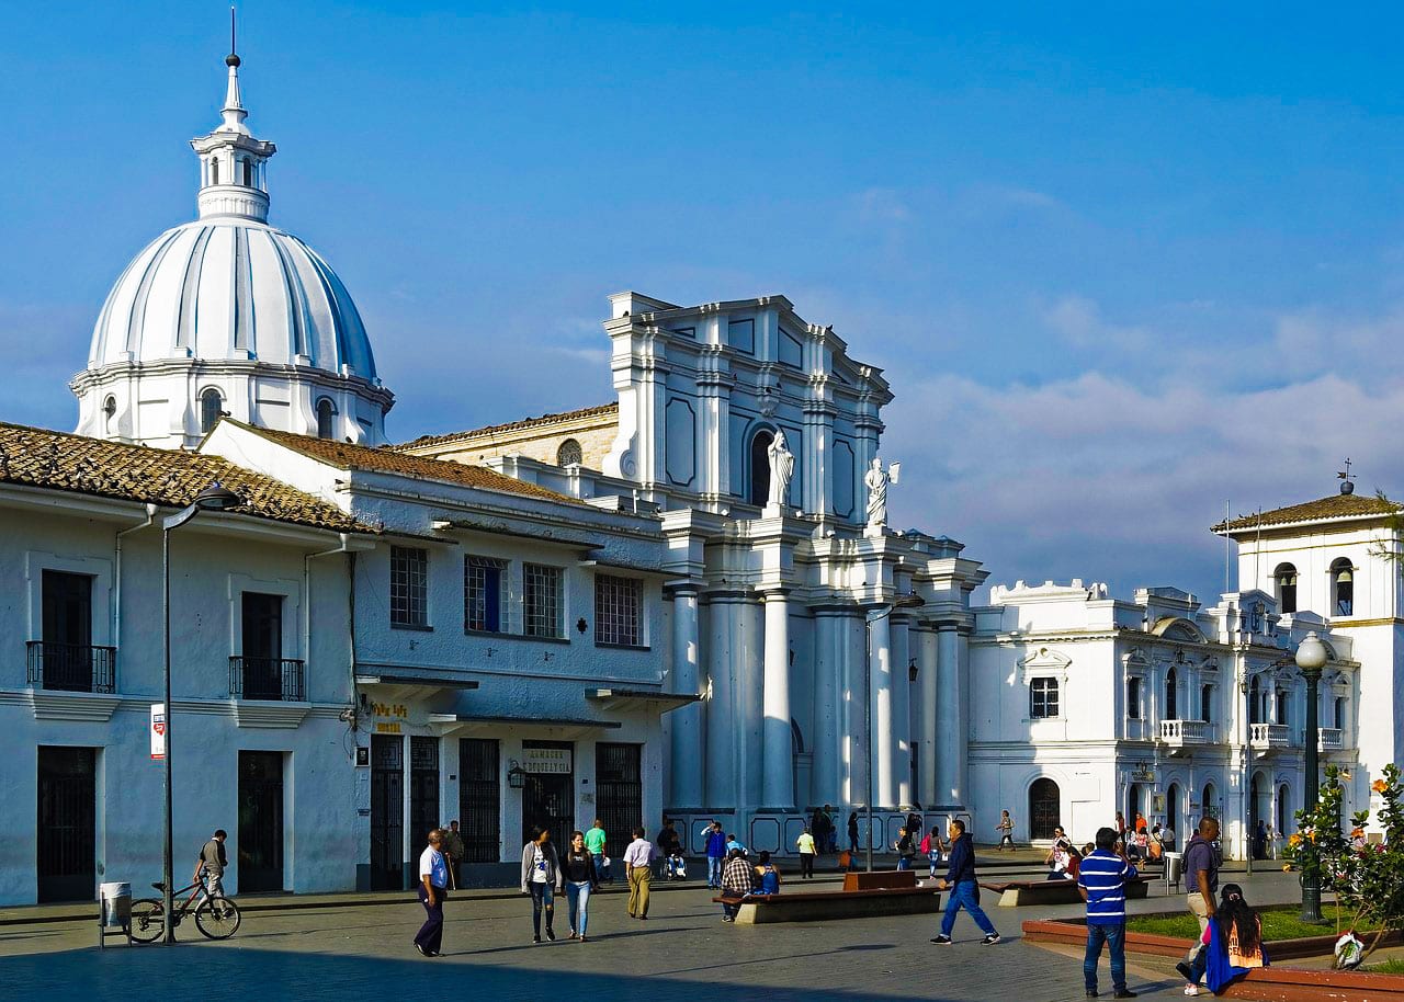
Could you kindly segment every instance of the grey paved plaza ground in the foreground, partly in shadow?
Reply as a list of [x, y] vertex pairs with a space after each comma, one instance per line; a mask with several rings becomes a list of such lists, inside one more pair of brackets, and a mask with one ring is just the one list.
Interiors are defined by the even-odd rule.
[[[797, 881], [795, 881], [797, 883]], [[1250, 898], [1290, 901], [1296, 881], [1255, 877]], [[790, 890], [799, 890], [790, 887]], [[988, 900], [990, 895], [987, 895]], [[472, 992], [491, 1002], [591, 998], [633, 1002], [664, 998], [765, 999], [1015, 999], [1082, 998], [1081, 961], [1021, 942], [1029, 918], [1075, 915], [1077, 907], [988, 909], [1005, 942], [983, 946], [969, 918], [956, 944], [936, 947], [938, 916], [731, 926], [720, 922], [705, 890], [656, 894], [646, 922], [629, 919], [623, 895], [591, 901], [588, 943], [531, 943], [526, 898], [458, 897], [448, 902], [437, 960], [411, 946], [423, 909], [404, 905], [251, 912], [234, 939], [209, 943], [180, 928], [176, 949], [93, 947], [88, 923], [8, 926], [0, 930], [0, 998], [329, 999], [392, 991], [396, 995]], [[1136, 911], [1172, 911], [1184, 897], [1133, 902]], [[1141, 995], [1177, 996], [1172, 961], [1130, 957], [1130, 985]], [[1101, 971], [1109, 995], [1109, 973]]]

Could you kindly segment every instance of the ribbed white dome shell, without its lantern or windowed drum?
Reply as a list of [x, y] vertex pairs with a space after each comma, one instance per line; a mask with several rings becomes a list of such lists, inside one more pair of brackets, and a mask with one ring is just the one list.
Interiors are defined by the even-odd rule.
[[108, 293], [88, 369], [166, 359], [253, 359], [379, 383], [337, 274], [298, 237], [243, 216], [167, 230]]

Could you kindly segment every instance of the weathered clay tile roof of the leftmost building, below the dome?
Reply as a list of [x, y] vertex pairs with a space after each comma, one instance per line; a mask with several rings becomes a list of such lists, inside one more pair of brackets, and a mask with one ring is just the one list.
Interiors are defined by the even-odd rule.
[[233, 511], [244, 515], [376, 532], [336, 505], [218, 456], [0, 422], [0, 483], [184, 508], [216, 480], [243, 498]]

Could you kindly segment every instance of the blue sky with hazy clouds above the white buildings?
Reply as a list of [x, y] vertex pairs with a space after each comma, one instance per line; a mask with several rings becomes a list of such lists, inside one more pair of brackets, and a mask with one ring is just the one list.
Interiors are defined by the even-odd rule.
[[[194, 213], [227, 8], [4, 15], [0, 420], [67, 428], [108, 286]], [[900, 525], [995, 582], [1212, 598], [1226, 500], [1346, 455], [1404, 491], [1401, 20], [250, 0], [240, 51], [392, 436], [611, 399], [609, 292], [778, 292], [887, 369]]]

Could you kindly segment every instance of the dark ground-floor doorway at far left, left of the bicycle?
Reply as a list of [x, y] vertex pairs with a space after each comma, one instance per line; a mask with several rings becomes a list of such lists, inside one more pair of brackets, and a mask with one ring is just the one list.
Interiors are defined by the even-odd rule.
[[39, 745], [39, 901], [91, 901], [97, 886], [97, 749]]

